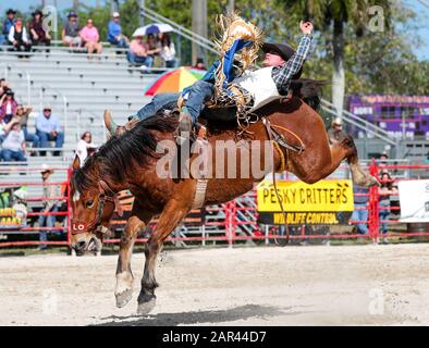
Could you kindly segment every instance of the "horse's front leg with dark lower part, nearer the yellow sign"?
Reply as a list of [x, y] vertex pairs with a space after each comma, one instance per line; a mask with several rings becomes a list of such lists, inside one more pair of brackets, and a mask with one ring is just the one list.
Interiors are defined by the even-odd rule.
[[142, 290], [138, 296], [137, 313], [139, 314], [147, 314], [155, 307], [155, 288], [158, 287], [157, 281], [155, 279], [155, 265], [158, 252], [164, 239], [179, 225], [191, 207], [180, 207], [176, 200], [170, 201], [159, 217], [155, 233], [147, 241], [145, 249], [145, 271], [142, 278]]

